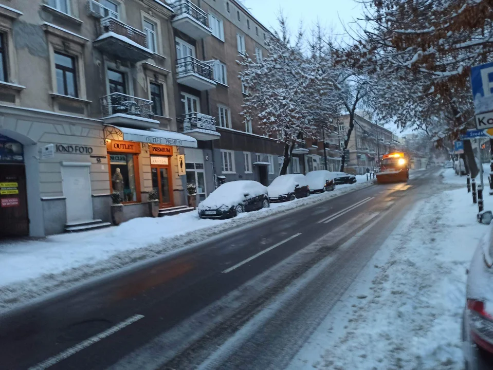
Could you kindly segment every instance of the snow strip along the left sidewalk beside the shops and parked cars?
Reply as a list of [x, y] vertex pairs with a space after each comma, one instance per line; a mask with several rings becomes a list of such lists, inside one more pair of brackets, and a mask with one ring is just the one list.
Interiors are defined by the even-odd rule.
[[0, 244], [0, 312], [43, 294], [192, 246], [233, 228], [371, 184], [364, 181], [337, 186], [334, 192], [272, 204], [268, 209], [228, 220], [200, 219], [197, 212], [189, 212], [161, 218], [135, 218], [118, 227], [54, 235], [39, 241]]

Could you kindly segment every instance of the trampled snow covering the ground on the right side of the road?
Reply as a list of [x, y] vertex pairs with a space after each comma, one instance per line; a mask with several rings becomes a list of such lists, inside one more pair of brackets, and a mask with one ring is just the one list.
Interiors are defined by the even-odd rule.
[[462, 370], [466, 269], [489, 229], [477, 210], [465, 188], [420, 201], [346, 293], [349, 303], [326, 319], [314, 343], [325, 353], [297, 360], [331, 370]]

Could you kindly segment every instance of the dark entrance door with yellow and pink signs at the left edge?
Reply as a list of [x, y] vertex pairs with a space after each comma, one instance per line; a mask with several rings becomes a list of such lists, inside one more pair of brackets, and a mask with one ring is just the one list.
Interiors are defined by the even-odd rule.
[[0, 164], [0, 237], [28, 234], [24, 165]]

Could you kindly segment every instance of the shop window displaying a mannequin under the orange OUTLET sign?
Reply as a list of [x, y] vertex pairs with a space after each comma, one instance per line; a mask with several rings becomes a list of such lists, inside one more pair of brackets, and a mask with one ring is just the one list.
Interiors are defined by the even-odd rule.
[[112, 191], [120, 193], [123, 202], [137, 201], [134, 155], [110, 154]]

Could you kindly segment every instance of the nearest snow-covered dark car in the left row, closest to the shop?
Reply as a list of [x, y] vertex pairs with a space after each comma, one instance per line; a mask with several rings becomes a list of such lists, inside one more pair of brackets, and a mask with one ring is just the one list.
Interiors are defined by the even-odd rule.
[[269, 207], [267, 188], [250, 180], [222, 184], [198, 205], [200, 218], [230, 218]]

